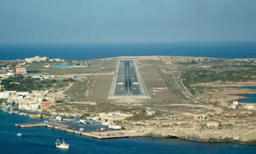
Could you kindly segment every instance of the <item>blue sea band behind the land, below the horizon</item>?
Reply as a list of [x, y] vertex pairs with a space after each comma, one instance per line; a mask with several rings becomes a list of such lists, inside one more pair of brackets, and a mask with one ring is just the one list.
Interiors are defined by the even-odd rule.
[[256, 42], [162, 42], [85, 44], [0, 44], [0, 60], [49, 56], [97, 59], [116, 56], [201, 56], [256, 58]]

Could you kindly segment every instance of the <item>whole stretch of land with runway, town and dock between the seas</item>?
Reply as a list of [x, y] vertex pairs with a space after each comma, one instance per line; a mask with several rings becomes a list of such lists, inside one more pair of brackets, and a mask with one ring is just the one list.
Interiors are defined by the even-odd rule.
[[99, 139], [256, 143], [249, 135], [256, 105], [245, 96], [256, 94], [256, 59], [35, 56], [0, 66], [1, 110], [42, 118], [18, 127], [44, 126]]

